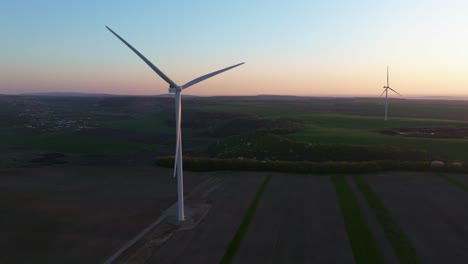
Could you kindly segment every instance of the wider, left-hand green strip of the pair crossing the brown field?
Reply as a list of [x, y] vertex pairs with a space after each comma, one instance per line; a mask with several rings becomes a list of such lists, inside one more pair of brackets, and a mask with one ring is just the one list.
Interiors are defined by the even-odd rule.
[[346, 179], [343, 176], [333, 176], [331, 179], [335, 186], [338, 204], [343, 213], [355, 262], [370, 264], [384, 263], [377, 243], [372, 236], [367, 219], [359, 208], [356, 197], [354, 197]]

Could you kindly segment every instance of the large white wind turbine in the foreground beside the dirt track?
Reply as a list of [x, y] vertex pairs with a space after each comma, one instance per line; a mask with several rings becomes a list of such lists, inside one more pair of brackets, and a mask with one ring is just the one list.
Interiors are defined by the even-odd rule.
[[169, 84], [169, 93], [174, 93], [175, 94], [175, 120], [176, 120], [176, 151], [175, 151], [175, 156], [174, 156], [174, 177], [177, 175], [177, 211], [178, 211], [178, 220], [179, 221], [184, 221], [184, 176], [183, 176], [183, 170], [182, 170], [182, 135], [181, 135], [181, 129], [180, 129], [180, 120], [181, 120], [181, 98], [182, 98], [182, 90], [197, 84], [201, 81], [204, 81], [210, 77], [213, 77], [215, 75], [218, 75], [222, 72], [225, 72], [227, 70], [230, 70], [234, 67], [240, 66], [242, 63], [221, 69], [219, 71], [215, 71], [212, 73], [208, 73], [206, 75], [200, 76], [198, 78], [195, 78], [191, 80], [190, 82], [184, 84], [184, 85], [177, 85], [175, 82], [173, 82], [169, 77], [167, 77], [162, 71], [160, 71], [156, 66], [154, 66], [153, 63], [151, 63], [145, 56], [143, 56], [138, 50], [136, 50], [132, 45], [130, 45], [127, 41], [125, 41], [122, 37], [120, 37], [117, 33], [115, 33], [112, 29], [110, 29], [108, 26], [106, 28], [112, 32], [118, 39], [120, 39], [127, 47], [129, 47], [133, 52], [138, 55], [156, 74], [159, 75], [164, 81], [166, 81]]

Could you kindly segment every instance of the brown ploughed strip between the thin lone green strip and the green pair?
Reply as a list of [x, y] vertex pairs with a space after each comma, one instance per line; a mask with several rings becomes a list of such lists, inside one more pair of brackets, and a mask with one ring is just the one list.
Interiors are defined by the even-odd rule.
[[353, 263], [326, 175], [274, 173], [232, 263]]

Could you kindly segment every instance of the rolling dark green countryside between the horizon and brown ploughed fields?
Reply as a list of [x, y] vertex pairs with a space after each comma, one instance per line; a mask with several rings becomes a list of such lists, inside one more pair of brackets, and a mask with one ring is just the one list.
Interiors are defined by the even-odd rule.
[[[4, 103], [0, 108], [8, 110], [0, 115], [4, 153], [173, 153], [171, 98], [2, 96], [0, 101]], [[391, 100], [388, 121], [382, 118], [382, 100], [374, 98], [194, 97], [184, 99], [183, 106], [184, 154], [189, 156], [468, 161], [464, 137], [382, 133], [400, 128], [467, 128], [464, 101]], [[357, 156], [350, 160], [350, 153]]]

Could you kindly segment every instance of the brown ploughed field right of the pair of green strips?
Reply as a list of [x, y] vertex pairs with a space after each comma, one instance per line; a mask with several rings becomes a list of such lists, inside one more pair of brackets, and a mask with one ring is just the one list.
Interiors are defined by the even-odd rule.
[[[378, 194], [389, 212], [387, 216], [391, 215], [406, 235], [421, 263], [466, 263], [465, 190], [434, 173], [394, 172], [362, 177]], [[385, 225], [382, 223], [383, 228]]]

